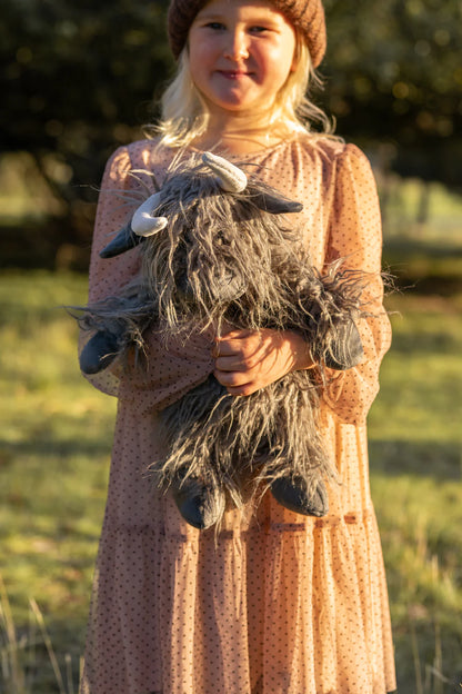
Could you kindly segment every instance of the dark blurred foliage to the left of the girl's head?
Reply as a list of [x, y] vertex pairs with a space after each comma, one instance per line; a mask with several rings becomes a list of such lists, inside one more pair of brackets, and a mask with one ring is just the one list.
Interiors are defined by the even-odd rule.
[[94, 199], [87, 186], [99, 181], [110, 151], [135, 135], [133, 123], [171, 67], [163, 6], [2, 3], [0, 148], [33, 156], [66, 201], [71, 227], [84, 214], [82, 200]]

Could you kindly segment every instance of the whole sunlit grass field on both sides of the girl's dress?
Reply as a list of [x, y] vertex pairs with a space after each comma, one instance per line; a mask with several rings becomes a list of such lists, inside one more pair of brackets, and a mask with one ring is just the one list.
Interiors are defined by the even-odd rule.
[[[436, 287], [390, 297], [394, 341], [370, 415], [371, 484], [402, 694], [458, 692], [462, 683], [462, 294], [445, 294]], [[80, 376], [76, 326], [59, 308], [84, 299], [79, 276], [0, 280], [6, 694], [77, 688], [116, 408]]]

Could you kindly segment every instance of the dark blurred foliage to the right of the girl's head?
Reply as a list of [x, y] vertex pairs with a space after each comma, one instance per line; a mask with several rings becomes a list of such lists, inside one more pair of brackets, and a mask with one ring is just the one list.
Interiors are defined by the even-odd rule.
[[462, 189], [462, 4], [325, 0], [328, 106], [339, 130], [394, 145], [404, 176]]

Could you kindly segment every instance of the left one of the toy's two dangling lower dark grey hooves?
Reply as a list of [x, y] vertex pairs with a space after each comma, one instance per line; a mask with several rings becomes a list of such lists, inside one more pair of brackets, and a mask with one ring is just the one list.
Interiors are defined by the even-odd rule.
[[199, 531], [210, 528], [224, 513], [224, 493], [209, 489], [197, 479], [185, 479], [172, 496], [184, 520]]

